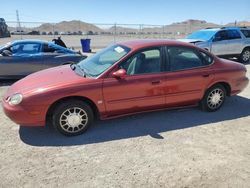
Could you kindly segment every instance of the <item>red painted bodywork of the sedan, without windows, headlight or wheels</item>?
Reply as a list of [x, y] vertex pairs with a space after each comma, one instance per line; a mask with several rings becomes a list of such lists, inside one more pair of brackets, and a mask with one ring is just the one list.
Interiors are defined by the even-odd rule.
[[[198, 49], [191, 44], [169, 40], [140, 40], [121, 44], [131, 48], [127, 56], [154, 46]], [[13, 84], [5, 94], [2, 105], [6, 115], [17, 124], [44, 126], [49, 107], [67, 97], [91, 100], [100, 118], [108, 119], [142, 111], [196, 105], [205, 91], [219, 82], [230, 85], [231, 95], [241, 92], [248, 84], [245, 66], [213, 57], [214, 63], [203, 68], [134, 76], [126, 75], [125, 70], [118, 70], [117, 65], [124, 57], [95, 79], [76, 75], [69, 65], [56, 67]], [[15, 93], [22, 93], [23, 101], [17, 106], [10, 106], [6, 99]]]

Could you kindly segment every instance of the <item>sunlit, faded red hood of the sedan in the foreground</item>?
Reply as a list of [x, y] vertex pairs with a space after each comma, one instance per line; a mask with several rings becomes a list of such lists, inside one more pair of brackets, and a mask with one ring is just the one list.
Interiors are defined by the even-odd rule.
[[43, 92], [54, 88], [63, 88], [72, 86], [76, 83], [85, 83], [90, 81], [76, 74], [70, 65], [63, 65], [31, 74], [22, 80], [14, 83], [7, 91], [5, 97], [15, 93], [29, 95], [31, 93]]

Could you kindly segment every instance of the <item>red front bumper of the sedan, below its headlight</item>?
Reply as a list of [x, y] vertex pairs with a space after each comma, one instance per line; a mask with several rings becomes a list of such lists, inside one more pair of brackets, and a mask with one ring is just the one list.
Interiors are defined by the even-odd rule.
[[4, 113], [12, 121], [21, 126], [45, 126], [47, 109], [42, 106], [10, 106], [2, 100]]

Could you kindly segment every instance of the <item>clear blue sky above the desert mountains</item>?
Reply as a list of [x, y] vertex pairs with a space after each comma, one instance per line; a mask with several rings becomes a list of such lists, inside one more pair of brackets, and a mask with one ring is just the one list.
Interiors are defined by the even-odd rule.
[[187, 19], [250, 21], [250, 0], [0, 0], [0, 17], [16, 21], [167, 25]]

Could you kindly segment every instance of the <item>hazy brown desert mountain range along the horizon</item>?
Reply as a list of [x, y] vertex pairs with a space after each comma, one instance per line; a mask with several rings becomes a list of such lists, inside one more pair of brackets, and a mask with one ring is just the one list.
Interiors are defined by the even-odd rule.
[[[199, 30], [199, 29], [204, 29], [204, 28], [209, 28], [209, 27], [222, 27], [222, 26], [234, 26], [235, 23], [228, 23], [226, 25], [218, 25], [214, 23], [209, 23], [204, 20], [193, 20], [189, 19], [183, 22], [177, 22], [177, 23], [172, 23], [170, 25], [165, 25], [165, 26], [153, 26], [153, 25], [119, 25], [117, 24], [116, 26], [111, 26], [108, 29], [103, 29], [98, 27], [97, 25], [78, 21], [78, 20], [72, 20], [72, 21], [62, 21], [56, 24], [51, 24], [51, 23], [44, 23], [38, 27], [34, 28], [22, 28], [24, 31], [40, 31], [40, 32], [53, 32], [53, 31], [58, 31], [58, 32], [89, 32], [92, 31], [93, 33], [128, 33], [128, 34], [133, 34], [133, 33], [138, 33], [138, 32], [143, 32], [143, 33], [168, 33], [168, 34], [173, 34], [173, 33], [180, 33], [180, 34], [188, 34], [192, 33], [193, 31]], [[248, 21], [241, 21], [237, 22], [237, 26], [250, 26], [250, 22]], [[9, 27], [10, 31], [15, 30], [13, 27]]]

